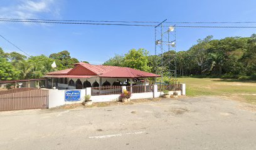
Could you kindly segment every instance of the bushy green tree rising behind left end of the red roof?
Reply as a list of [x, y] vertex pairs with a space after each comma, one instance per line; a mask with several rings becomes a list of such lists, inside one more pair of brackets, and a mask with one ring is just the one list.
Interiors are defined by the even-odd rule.
[[72, 64], [79, 63], [76, 58], [71, 58], [68, 51], [50, 54], [49, 58], [53, 59], [58, 70], [73, 68]]

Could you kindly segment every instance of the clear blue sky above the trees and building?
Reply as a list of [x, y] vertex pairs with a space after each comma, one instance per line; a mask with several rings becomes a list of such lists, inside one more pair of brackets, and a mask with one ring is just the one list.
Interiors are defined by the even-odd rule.
[[[163, 21], [164, 19], [175, 22], [256, 21], [255, 6], [255, 0], [1, 0], [0, 17], [95, 21]], [[225, 25], [248, 26], [247, 24]], [[256, 26], [256, 24], [251, 26], [253, 25]], [[197, 39], [208, 35], [213, 35], [214, 39], [221, 39], [228, 36], [250, 36], [256, 33], [255, 28], [178, 28], [176, 31], [178, 51], [188, 50], [196, 44]], [[154, 54], [154, 27], [0, 22], [0, 34], [33, 56], [40, 54], [49, 56], [51, 53], [68, 50], [72, 57], [92, 64], [102, 64], [115, 54], [127, 53], [132, 48], [143, 47], [150, 54]], [[0, 39], [0, 47], [6, 52], [18, 51], [3, 39]]]

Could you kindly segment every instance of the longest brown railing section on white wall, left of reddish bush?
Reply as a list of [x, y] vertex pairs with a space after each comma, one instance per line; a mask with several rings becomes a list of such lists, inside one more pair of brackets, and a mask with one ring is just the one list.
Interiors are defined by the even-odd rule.
[[121, 93], [122, 93], [122, 86], [101, 86], [101, 87], [93, 87], [91, 89], [92, 96], [121, 94]]

